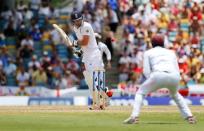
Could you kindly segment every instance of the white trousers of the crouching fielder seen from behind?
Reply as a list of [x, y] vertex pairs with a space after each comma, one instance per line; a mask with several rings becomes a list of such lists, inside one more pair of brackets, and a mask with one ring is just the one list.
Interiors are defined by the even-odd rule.
[[168, 88], [173, 100], [176, 102], [184, 118], [192, 116], [184, 98], [178, 93], [180, 77], [174, 73], [153, 72], [150, 77], [141, 85], [135, 95], [132, 117], [139, 117], [144, 96], [160, 88]]

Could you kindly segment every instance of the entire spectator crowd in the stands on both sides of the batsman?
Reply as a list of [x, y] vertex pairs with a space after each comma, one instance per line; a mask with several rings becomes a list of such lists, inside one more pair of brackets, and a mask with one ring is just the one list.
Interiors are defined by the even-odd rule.
[[[204, 83], [202, 1], [76, 0], [73, 6], [103, 35], [112, 54], [119, 51], [119, 82], [142, 78], [143, 52], [151, 48], [151, 36], [162, 33], [166, 48], [177, 53], [181, 86]], [[72, 56], [52, 23], [70, 32], [68, 14], [48, 0], [31, 0], [28, 5], [20, 1], [15, 9], [1, 11], [1, 85], [84, 87], [80, 60]]]

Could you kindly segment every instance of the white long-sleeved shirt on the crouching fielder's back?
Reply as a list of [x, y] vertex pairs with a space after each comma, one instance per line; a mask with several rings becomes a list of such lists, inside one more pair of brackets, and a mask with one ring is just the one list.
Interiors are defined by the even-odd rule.
[[176, 54], [166, 48], [155, 47], [144, 53], [143, 73], [146, 78], [152, 72], [169, 72], [179, 75]]

